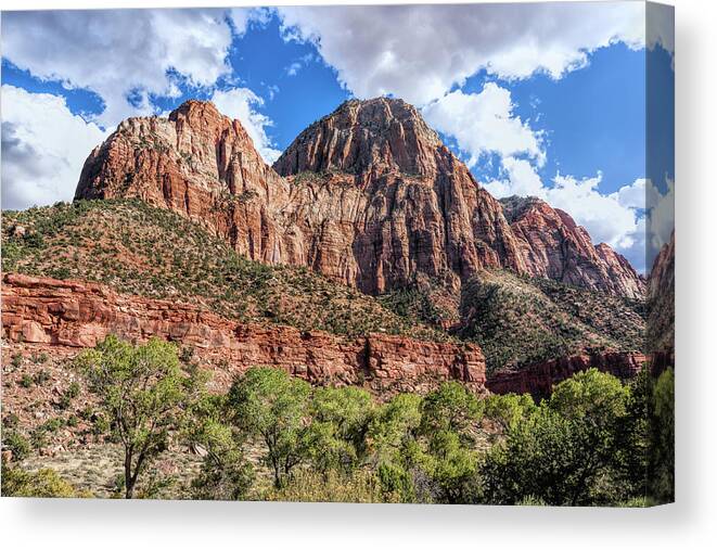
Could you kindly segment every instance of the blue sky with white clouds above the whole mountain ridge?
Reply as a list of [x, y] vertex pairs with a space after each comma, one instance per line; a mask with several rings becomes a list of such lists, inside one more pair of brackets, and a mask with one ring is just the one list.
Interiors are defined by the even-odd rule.
[[670, 119], [645, 116], [671, 108], [645, 91], [670, 87], [674, 38], [648, 16], [645, 36], [642, 2], [5, 12], [2, 206], [72, 200], [121, 119], [189, 98], [271, 163], [346, 99], [393, 95], [496, 196], [540, 196], [643, 270], [674, 197]]

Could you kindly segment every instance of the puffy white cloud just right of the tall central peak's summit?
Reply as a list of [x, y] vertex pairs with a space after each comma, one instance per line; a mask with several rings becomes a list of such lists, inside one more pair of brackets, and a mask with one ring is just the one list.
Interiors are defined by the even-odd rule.
[[546, 154], [541, 137], [513, 115], [509, 90], [495, 82], [485, 85], [481, 93], [456, 90], [430, 103], [423, 116], [438, 131], [452, 136], [460, 148], [471, 155], [473, 166], [486, 153], [501, 157], [526, 154], [542, 165]]

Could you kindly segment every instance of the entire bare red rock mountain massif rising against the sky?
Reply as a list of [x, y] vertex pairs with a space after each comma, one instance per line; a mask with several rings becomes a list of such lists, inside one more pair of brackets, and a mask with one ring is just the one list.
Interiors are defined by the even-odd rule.
[[76, 191], [129, 196], [202, 223], [252, 259], [307, 266], [372, 294], [418, 277], [457, 291], [482, 268], [643, 293], [627, 260], [593, 246], [566, 213], [494, 199], [401, 100], [342, 104], [273, 168], [212, 103], [130, 118], [91, 153]]

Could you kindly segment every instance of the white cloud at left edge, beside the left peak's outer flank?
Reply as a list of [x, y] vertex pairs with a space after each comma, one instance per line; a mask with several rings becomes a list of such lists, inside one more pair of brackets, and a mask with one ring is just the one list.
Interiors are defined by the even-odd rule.
[[2, 207], [72, 201], [85, 159], [105, 138], [63, 98], [2, 86]]

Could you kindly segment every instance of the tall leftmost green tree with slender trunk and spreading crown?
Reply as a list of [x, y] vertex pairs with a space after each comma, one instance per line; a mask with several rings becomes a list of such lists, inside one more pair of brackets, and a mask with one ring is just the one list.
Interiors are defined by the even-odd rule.
[[197, 370], [183, 372], [176, 346], [158, 338], [133, 346], [110, 335], [74, 364], [124, 447], [125, 497], [132, 498], [148, 464], [184, 425], [205, 379]]

